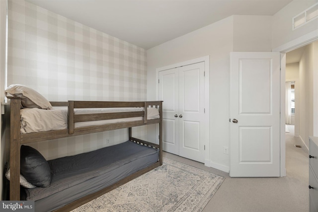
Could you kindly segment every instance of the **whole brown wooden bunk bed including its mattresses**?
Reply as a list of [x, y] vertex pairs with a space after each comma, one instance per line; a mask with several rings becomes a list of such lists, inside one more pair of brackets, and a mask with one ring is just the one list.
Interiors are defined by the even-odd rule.
[[[25, 129], [22, 129], [24, 124], [21, 111], [25, 112], [29, 109], [25, 108], [26, 97], [24, 94], [13, 94], [7, 98], [10, 99], [10, 104], [5, 108], [5, 115], [9, 127], [9, 199], [12, 201], [21, 200], [21, 197], [26, 198], [24, 200], [34, 200], [36, 211], [71, 211], [162, 165], [162, 101], [49, 102], [50, 108], [36, 105], [34, 110], [52, 112], [56, 110], [53, 109], [54, 107], [61, 107], [63, 108], [61, 109], [62, 114], [67, 114], [67, 126], [61, 127], [62, 129], [53, 127], [49, 131], [40, 129], [37, 130], [38, 132], [25, 132]], [[29, 101], [28, 97], [27, 100]], [[85, 112], [87, 109], [91, 109], [93, 112]], [[150, 117], [149, 114], [152, 112], [149, 111], [154, 109], [158, 111], [158, 115]], [[39, 114], [36, 113], [35, 117], [39, 120]], [[159, 143], [143, 141], [132, 136], [133, 127], [150, 124], [159, 125]], [[37, 151], [25, 146], [27, 143], [123, 128], [128, 128], [129, 141], [92, 152], [49, 160], [47, 162], [52, 174], [49, 186], [38, 185], [35, 188], [27, 189], [20, 187], [22, 150], [25, 151], [26, 148], [27, 153]], [[92, 157], [92, 161], [86, 161], [87, 158]], [[65, 173], [63, 170], [69, 172]], [[87, 174], [83, 175], [82, 170], [86, 170]], [[112, 170], [117, 170], [117, 172], [112, 172]], [[70, 173], [72, 174], [70, 175]], [[71, 179], [71, 184], [73, 183], [75, 186], [63, 184], [68, 179]], [[82, 184], [83, 182], [88, 182], [88, 184]], [[80, 187], [83, 188], [83, 191], [78, 192]], [[61, 191], [66, 192], [61, 193]], [[32, 199], [34, 197], [35, 199]], [[48, 205], [50, 206], [48, 207]]]

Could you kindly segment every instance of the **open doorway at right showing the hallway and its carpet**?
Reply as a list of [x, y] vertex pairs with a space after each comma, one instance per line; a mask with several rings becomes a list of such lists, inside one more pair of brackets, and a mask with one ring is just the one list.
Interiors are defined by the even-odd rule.
[[318, 98], [314, 95], [317, 82], [310, 63], [316, 42], [286, 53], [286, 175], [292, 172], [302, 176], [304, 183], [308, 182], [309, 145], [306, 138], [314, 133], [313, 102]]

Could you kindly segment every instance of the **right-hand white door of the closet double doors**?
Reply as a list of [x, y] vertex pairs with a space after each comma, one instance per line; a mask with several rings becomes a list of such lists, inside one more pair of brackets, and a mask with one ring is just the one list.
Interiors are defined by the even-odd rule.
[[179, 68], [179, 155], [204, 162], [204, 63]]

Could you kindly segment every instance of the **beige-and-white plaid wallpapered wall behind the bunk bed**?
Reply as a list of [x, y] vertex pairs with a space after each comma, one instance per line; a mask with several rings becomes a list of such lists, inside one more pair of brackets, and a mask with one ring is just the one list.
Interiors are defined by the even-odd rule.
[[[8, 0], [8, 85], [49, 101], [144, 101], [146, 50], [24, 0]], [[32, 143], [47, 159], [126, 141], [126, 129]], [[144, 128], [134, 134], [146, 137]], [[108, 138], [110, 143], [106, 143]]]

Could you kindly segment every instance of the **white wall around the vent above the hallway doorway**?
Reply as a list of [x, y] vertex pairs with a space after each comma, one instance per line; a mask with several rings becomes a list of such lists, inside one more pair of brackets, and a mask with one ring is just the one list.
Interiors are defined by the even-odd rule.
[[318, 30], [318, 19], [292, 30], [292, 18], [314, 5], [318, 0], [293, 0], [273, 15], [272, 48], [278, 48], [310, 32]]

